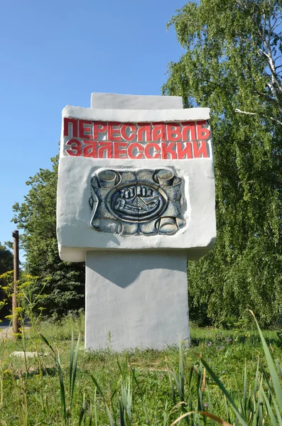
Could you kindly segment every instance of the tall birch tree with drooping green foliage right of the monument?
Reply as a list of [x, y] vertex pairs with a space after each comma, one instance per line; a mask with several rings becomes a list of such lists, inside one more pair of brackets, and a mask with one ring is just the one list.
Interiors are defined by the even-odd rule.
[[168, 26], [184, 53], [163, 93], [210, 107], [215, 154], [217, 241], [188, 264], [191, 317], [281, 324], [281, 1], [189, 1]]

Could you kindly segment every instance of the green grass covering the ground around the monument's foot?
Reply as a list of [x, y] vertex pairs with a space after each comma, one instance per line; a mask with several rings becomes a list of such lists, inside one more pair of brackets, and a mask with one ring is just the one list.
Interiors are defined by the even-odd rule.
[[[234, 425], [236, 413], [232, 404], [224, 398], [199, 356], [231, 394], [234, 405], [248, 419], [246, 424], [273, 424], [264, 400], [264, 393], [270, 393], [266, 380], [269, 373], [261, 385], [264, 393], [259, 393], [263, 370], [260, 367], [256, 373], [258, 357], [262, 366], [267, 368], [268, 364], [259, 332], [254, 330], [192, 327], [190, 348], [131, 350], [122, 354], [114, 353], [110, 344], [105, 351], [85, 351], [83, 317], [41, 322], [25, 336], [24, 341], [4, 339], [0, 345], [0, 425], [163, 426], [190, 410], [212, 412]], [[282, 341], [276, 332], [264, 332], [264, 337], [273, 359], [282, 359]], [[44, 356], [10, 356], [23, 348]], [[256, 378], [257, 389], [252, 395]], [[269, 396], [271, 404], [273, 395]], [[261, 398], [258, 404], [257, 398]], [[278, 398], [279, 402], [282, 401]], [[250, 420], [248, 413], [254, 414], [253, 403], [258, 413], [261, 410], [261, 417]], [[277, 417], [276, 413], [273, 416]], [[215, 425], [211, 418], [198, 413], [187, 415], [178, 424]], [[281, 426], [279, 421], [277, 424]]]

